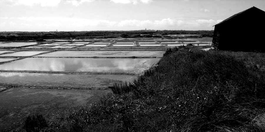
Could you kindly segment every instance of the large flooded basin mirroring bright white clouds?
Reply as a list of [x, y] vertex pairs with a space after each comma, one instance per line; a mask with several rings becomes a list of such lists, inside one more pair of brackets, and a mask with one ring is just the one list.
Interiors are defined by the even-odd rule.
[[140, 74], [160, 58], [26, 58], [0, 65], [0, 70], [122, 72]]

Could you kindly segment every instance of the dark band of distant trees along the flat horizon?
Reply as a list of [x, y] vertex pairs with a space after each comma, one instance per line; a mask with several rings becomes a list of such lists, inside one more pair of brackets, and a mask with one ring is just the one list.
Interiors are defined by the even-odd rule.
[[169, 37], [169, 34], [199, 34], [213, 37], [213, 30], [138, 30], [138, 31], [82, 31], [82, 32], [0, 32], [0, 40], [42, 40], [59, 38], [116, 38], [116, 37]]

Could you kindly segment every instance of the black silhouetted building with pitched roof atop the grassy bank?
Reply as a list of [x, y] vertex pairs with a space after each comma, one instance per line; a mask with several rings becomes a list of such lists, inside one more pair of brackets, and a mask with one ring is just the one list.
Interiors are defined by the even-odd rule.
[[265, 52], [265, 11], [253, 6], [214, 26], [215, 48]]

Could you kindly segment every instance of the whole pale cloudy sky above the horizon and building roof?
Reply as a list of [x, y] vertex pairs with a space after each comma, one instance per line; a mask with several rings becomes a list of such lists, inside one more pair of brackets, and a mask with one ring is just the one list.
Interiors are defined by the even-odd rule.
[[214, 30], [265, 0], [0, 0], [0, 31]]

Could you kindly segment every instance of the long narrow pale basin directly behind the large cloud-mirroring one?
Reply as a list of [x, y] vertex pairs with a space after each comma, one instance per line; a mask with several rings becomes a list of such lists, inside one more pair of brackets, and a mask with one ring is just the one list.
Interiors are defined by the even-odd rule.
[[38, 57], [163, 57], [161, 51], [57, 51]]

